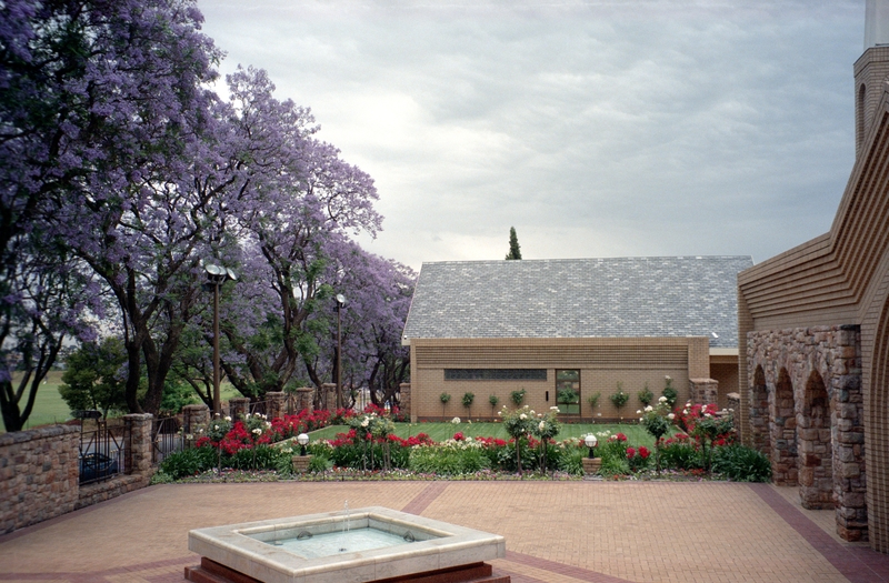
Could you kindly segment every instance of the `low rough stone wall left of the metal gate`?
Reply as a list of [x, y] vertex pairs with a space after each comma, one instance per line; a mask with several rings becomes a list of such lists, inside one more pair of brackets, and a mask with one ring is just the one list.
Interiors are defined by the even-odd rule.
[[53, 425], [0, 435], [0, 532], [74, 510], [79, 431]]

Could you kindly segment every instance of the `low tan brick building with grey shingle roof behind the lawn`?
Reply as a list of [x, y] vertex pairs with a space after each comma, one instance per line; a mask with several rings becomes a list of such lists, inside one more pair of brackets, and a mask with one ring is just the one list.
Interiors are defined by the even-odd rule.
[[[558, 406], [566, 421], [635, 419], [637, 393], [648, 385], [659, 395], [665, 376], [681, 400], [709, 391], [725, 406], [738, 388], [736, 279], [751, 265], [749, 257], [423, 263], [402, 338], [411, 419], [491, 418], [521, 390], [523, 404]], [[630, 395], [621, 409], [609, 400], [618, 383]]]

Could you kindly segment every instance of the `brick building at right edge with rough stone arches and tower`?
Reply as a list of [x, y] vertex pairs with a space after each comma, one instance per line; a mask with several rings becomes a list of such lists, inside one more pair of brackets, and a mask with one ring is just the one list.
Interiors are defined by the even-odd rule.
[[889, 552], [889, 2], [868, 2], [866, 31], [830, 231], [738, 277], [741, 429], [777, 484]]

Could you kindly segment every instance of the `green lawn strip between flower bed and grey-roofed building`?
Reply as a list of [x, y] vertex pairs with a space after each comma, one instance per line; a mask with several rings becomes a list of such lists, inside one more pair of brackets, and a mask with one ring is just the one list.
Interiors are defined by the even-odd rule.
[[[330, 440], [337, 433], [346, 433], [349, 428], [346, 425], [334, 425], [312, 432], [312, 441]], [[502, 423], [396, 423], [396, 435], [406, 439], [418, 433], [426, 433], [433, 441], [444, 441], [453, 436], [456, 432], [462, 432], [468, 438], [500, 438], [509, 439]], [[578, 423], [563, 424], [561, 431], [556, 436], [557, 440], [568, 438], [580, 438], [587, 433], [600, 433], [610, 431], [611, 434], [621, 432], [627, 435], [627, 441], [632, 445], [655, 446], [655, 439], [641, 425], [609, 425], [603, 423]]]

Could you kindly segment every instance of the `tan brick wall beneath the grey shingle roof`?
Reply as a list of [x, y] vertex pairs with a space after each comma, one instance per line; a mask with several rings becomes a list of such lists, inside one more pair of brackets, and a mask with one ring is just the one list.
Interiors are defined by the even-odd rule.
[[[665, 388], [665, 376], [672, 378], [679, 399], [689, 398], [688, 379], [691, 359], [697, 371], [709, 375], [709, 342], [702, 338], [682, 339], [473, 339], [411, 341], [412, 419], [452, 419], [469, 416], [462, 405], [467, 392], [475, 394], [470, 419], [490, 419], [489, 396], [497, 395], [497, 409], [515, 406], [512, 391], [527, 391], [523, 404], [541, 411], [556, 405], [556, 370], [580, 370], [581, 419], [636, 419], [640, 409], [637, 393], [646, 383], [655, 395]], [[607, 356], [607, 358], [606, 358]], [[559, 361], [558, 364], [546, 362]], [[419, 362], [418, 362], [419, 361]], [[546, 381], [446, 381], [444, 369], [546, 369]], [[617, 410], [609, 395], [617, 383], [630, 400]], [[450, 401], [442, 408], [440, 394]], [[588, 396], [601, 393], [596, 410]], [[548, 399], [547, 399], [548, 398]], [[566, 416], [566, 419], [569, 419]]]

